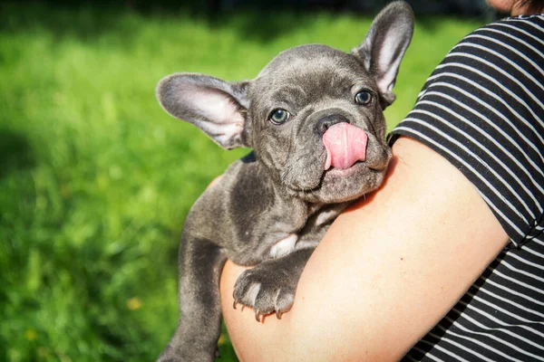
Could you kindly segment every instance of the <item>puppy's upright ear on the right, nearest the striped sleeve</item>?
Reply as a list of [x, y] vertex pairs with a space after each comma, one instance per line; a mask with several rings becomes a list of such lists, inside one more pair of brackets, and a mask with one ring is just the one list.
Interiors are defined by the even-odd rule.
[[374, 76], [382, 108], [389, 106], [395, 99], [394, 82], [412, 34], [412, 8], [403, 1], [397, 1], [375, 17], [364, 42], [352, 51]]

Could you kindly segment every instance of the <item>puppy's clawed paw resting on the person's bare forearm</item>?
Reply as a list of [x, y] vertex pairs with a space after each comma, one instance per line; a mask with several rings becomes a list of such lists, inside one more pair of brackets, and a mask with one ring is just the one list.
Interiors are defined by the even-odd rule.
[[271, 268], [267, 262], [244, 271], [234, 286], [234, 308], [237, 304], [255, 310], [255, 318], [276, 313], [277, 319], [293, 306], [296, 282], [285, 271]]

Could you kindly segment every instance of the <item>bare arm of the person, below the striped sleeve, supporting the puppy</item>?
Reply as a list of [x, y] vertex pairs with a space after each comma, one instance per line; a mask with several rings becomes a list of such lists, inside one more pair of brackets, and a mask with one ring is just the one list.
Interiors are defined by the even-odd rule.
[[240, 360], [397, 360], [508, 243], [476, 189], [431, 148], [400, 138], [392, 162], [384, 186], [326, 233], [281, 320], [232, 308], [244, 269], [227, 263], [223, 313]]

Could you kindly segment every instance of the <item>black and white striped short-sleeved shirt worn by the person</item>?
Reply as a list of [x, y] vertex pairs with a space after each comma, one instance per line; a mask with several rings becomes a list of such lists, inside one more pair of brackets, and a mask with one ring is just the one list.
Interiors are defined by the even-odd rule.
[[466, 36], [393, 130], [458, 167], [507, 248], [403, 360], [544, 361], [544, 15]]

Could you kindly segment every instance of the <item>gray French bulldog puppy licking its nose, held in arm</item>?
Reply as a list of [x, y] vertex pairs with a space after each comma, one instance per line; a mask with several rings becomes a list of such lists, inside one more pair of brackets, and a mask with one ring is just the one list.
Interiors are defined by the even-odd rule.
[[335, 217], [384, 180], [383, 110], [412, 39], [394, 2], [351, 53], [325, 45], [281, 52], [253, 81], [176, 73], [157, 97], [222, 148], [253, 148], [191, 208], [180, 243], [180, 321], [159, 361], [211, 361], [221, 331], [227, 259], [256, 265], [234, 299], [261, 315], [289, 310], [300, 274]]

